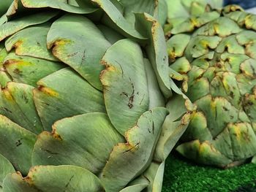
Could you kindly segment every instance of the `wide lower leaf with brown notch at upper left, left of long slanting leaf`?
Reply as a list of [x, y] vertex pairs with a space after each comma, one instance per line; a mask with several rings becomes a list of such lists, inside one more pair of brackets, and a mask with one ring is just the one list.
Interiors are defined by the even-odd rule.
[[64, 118], [53, 124], [51, 134], [46, 131], [39, 134], [32, 164], [76, 165], [98, 174], [119, 142], [124, 142], [124, 138], [113, 128], [105, 113]]

